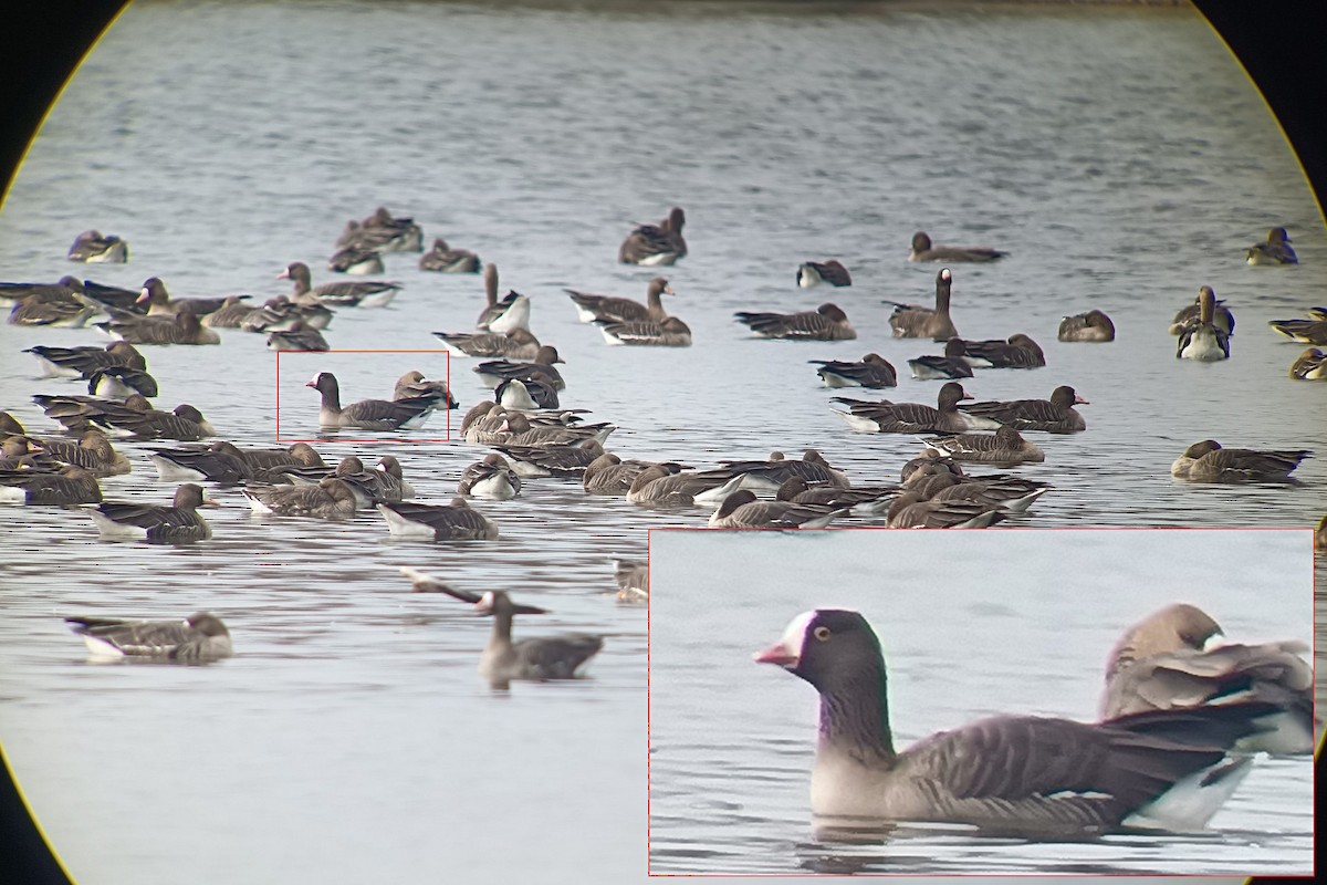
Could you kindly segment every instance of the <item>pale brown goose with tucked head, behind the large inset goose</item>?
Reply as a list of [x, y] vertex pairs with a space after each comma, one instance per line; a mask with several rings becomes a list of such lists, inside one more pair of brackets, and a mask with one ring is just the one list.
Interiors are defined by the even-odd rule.
[[1152, 710], [1182, 710], [1235, 701], [1266, 701], [1275, 713], [1259, 732], [1235, 743], [1241, 752], [1311, 755], [1314, 670], [1296, 640], [1209, 646], [1221, 626], [1196, 605], [1166, 605], [1120, 637], [1107, 659], [1103, 720]]

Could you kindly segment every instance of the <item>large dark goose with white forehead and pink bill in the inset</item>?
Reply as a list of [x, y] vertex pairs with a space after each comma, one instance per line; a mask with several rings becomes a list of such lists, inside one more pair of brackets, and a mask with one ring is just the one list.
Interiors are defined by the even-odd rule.
[[1246, 711], [1266, 709], [1204, 707], [1093, 724], [999, 715], [900, 752], [880, 640], [859, 612], [799, 614], [754, 659], [782, 666], [820, 694], [816, 816], [970, 824], [1022, 837], [1202, 828], [1251, 764], [1227, 759], [1223, 746], [1254, 727]]

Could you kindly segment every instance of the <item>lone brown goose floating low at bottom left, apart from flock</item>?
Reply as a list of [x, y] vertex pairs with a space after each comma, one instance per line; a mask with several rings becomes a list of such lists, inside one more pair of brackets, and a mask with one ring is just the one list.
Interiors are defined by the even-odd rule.
[[143, 657], [203, 663], [231, 657], [231, 632], [211, 612], [195, 612], [183, 621], [133, 621], [107, 617], [66, 617], [98, 657]]

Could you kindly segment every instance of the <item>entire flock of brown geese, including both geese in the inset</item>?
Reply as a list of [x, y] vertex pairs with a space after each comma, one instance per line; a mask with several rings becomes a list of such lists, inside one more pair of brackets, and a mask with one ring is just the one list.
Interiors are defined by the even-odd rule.
[[[674, 207], [660, 223], [637, 226], [622, 241], [618, 260], [641, 267], [675, 264], [687, 255], [685, 220], [683, 211]], [[386, 305], [402, 288], [369, 279], [314, 287], [309, 267], [301, 261], [280, 275], [291, 281], [291, 293], [261, 305], [247, 304], [249, 296], [175, 299], [158, 277], [147, 279], [139, 289], [73, 276], [57, 283], [0, 284], [0, 297], [13, 303], [11, 324], [85, 326], [106, 316], [92, 325], [115, 338], [106, 346], [28, 348], [44, 374], [78, 378], [86, 382], [88, 394], [33, 397], [60, 423], [62, 435], [32, 434], [9, 413], [0, 413], [0, 502], [85, 510], [109, 539], [194, 543], [211, 536], [199, 512], [215, 504], [204, 483], [240, 484], [259, 512], [342, 520], [376, 510], [393, 535], [487, 540], [498, 537], [498, 527], [470, 506], [472, 499], [511, 499], [529, 479], [569, 476], [579, 478], [589, 495], [710, 507], [707, 524], [717, 528], [819, 528], [848, 516], [859, 524], [896, 528], [979, 528], [1026, 512], [1050, 487], [1013, 472], [977, 474], [974, 466], [1011, 468], [1042, 462], [1043, 450], [1023, 434], [1087, 429], [1076, 410], [1087, 401], [1068, 385], [1055, 387], [1047, 399], [989, 402], [974, 401], [962, 386], [974, 370], [1046, 365], [1042, 348], [1030, 336], [965, 340], [950, 316], [954, 275], [949, 265], [999, 261], [1007, 256], [999, 249], [936, 245], [925, 232], [914, 235], [909, 260], [945, 267], [936, 276], [934, 304], [889, 303], [894, 306], [889, 325], [894, 337], [942, 346], [942, 353], [908, 361], [914, 378], [945, 381], [936, 405], [833, 397], [833, 413], [852, 431], [922, 439], [924, 452], [904, 466], [900, 482], [877, 486], [853, 484], [815, 450], [800, 458], [776, 451], [766, 459], [721, 462], [709, 468], [620, 458], [605, 450], [616, 430], [612, 423], [591, 422], [584, 410], [563, 407], [567, 385], [556, 368], [561, 357], [531, 330], [528, 296], [515, 291], [499, 296], [495, 264], [442, 239], [425, 252], [422, 231], [413, 219], [378, 208], [346, 224], [328, 267], [349, 277], [373, 276], [382, 272], [384, 252], [419, 252], [423, 271], [482, 273], [484, 304], [476, 328], [434, 333], [450, 349], [483, 358], [475, 374], [494, 391], [492, 399], [466, 413], [459, 427], [462, 439], [494, 451], [464, 470], [450, 503], [410, 500], [414, 490], [391, 455], [368, 468], [354, 455], [326, 464], [308, 443], [288, 448], [242, 448], [224, 439], [207, 443], [203, 441], [218, 431], [198, 407], [182, 403], [165, 411], [151, 405], [157, 382], [139, 348], [216, 345], [216, 329], [226, 328], [265, 334], [273, 350], [328, 350], [322, 332], [337, 310]], [[123, 240], [97, 231], [81, 234], [69, 251], [70, 260], [84, 263], [122, 263], [127, 255]], [[1246, 260], [1287, 264], [1296, 256], [1285, 230], [1274, 228], [1266, 241], [1247, 249]], [[843, 288], [852, 285], [852, 277], [837, 260], [807, 261], [798, 268], [796, 285]], [[689, 326], [665, 309], [665, 296], [673, 289], [664, 276], [649, 281], [644, 301], [579, 289], [567, 289], [567, 295], [579, 318], [596, 325], [608, 344], [691, 345]], [[833, 303], [796, 313], [743, 310], [735, 320], [762, 338], [856, 338], [847, 313]], [[1295, 361], [1291, 377], [1327, 378], [1319, 349], [1327, 345], [1327, 309], [1315, 308], [1306, 318], [1278, 320], [1271, 326], [1312, 345]], [[1227, 358], [1233, 330], [1229, 308], [1204, 285], [1194, 303], [1176, 316], [1176, 356]], [[1059, 328], [1059, 340], [1067, 342], [1113, 338], [1115, 326], [1100, 310], [1066, 317]], [[827, 387], [881, 390], [897, 385], [894, 366], [877, 353], [857, 362], [812, 364]], [[390, 398], [350, 403], [341, 402], [340, 383], [329, 372], [318, 373], [307, 386], [320, 397], [321, 429], [411, 431], [437, 410], [458, 407], [446, 383], [419, 372], [402, 375]], [[180, 483], [171, 504], [102, 499], [97, 480], [130, 470], [130, 459], [114, 447], [113, 437], [133, 441], [163, 482]], [[1180, 455], [1172, 472], [1189, 482], [1285, 482], [1308, 455], [1201, 441]], [[1327, 517], [1316, 539], [1319, 547], [1327, 547]], [[514, 617], [543, 609], [516, 602], [502, 590], [472, 593], [415, 569], [402, 573], [417, 592], [445, 593], [492, 617], [480, 673], [495, 685], [573, 678], [602, 647], [601, 637], [587, 634], [516, 641]], [[620, 563], [616, 579], [621, 598], [648, 600], [644, 564]], [[1148, 621], [1131, 633], [1129, 650], [1120, 651], [1119, 673], [1112, 674], [1101, 722], [1002, 716], [943, 732], [901, 754], [889, 740], [880, 645], [860, 614], [816, 610], [799, 616], [783, 640], [756, 659], [788, 669], [821, 694], [823, 728], [829, 728], [831, 739], [817, 748], [817, 813], [1105, 832], [1131, 821], [1165, 819], [1162, 797], [1172, 789], [1194, 787], [1197, 778], [1202, 789], [1216, 796], [1214, 804], [1190, 805], [1190, 811], [1204, 811], [1193, 812], [1185, 825], [1198, 819], [1201, 825], [1247, 772], [1247, 758], [1239, 754], [1311, 752], [1312, 678], [1299, 657], [1303, 649], [1290, 644], [1204, 650], [1205, 641], [1220, 630], [1205, 614], [1189, 609], [1172, 606], [1156, 616], [1160, 626]], [[226, 625], [208, 612], [170, 622], [68, 620], [97, 654], [187, 663], [232, 654]], [[861, 674], [871, 678], [859, 678]], [[1128, 689], [1119, 687], [1124, 674]], [[1190, 690], [1180, 690], [1181, 683]], [[1194, 683], [1202, 691], [1193, 691]], [[1231, 699], [1227, 695], [1235, 685], [1242, 687]], [[1162, 697], [1164, 703], [1136, 709], [1140, 697]], [[1283, 739], [1278, 743], [1269, 735]], [[1020, 767], [994, 771], [994, 762], [986, 759], [990, 754], [1020, 760]]]

